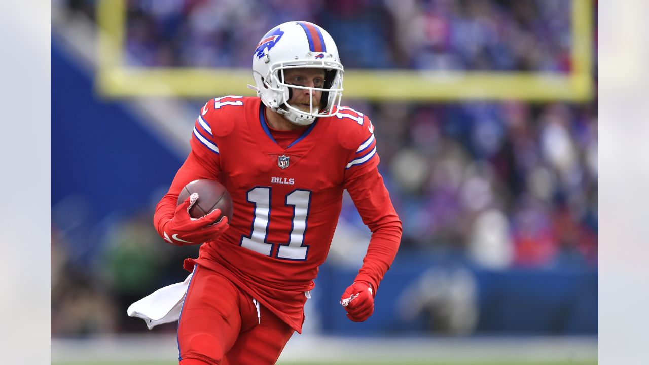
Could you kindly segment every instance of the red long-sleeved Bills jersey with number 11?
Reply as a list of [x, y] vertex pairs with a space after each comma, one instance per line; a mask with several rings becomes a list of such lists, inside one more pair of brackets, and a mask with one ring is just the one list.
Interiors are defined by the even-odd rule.
[[374, 292], [397, 253], [401, 223], [376, 168], [367, 116], [338, 108], [284, 148], [273, 139], [264, 112], [256, 97], [208, 101], [193, 129], [191, 153], [158, 204], [154, 223], [162, 236], [178, 193], [190, 181], [220, 181], [234, 202], [230, 227], [188, 264], [228, 277], [301, 333], [304, 292], [313, 288], [329, 251], [343, 190], [373, 232], [356, 281], [370, 283]]

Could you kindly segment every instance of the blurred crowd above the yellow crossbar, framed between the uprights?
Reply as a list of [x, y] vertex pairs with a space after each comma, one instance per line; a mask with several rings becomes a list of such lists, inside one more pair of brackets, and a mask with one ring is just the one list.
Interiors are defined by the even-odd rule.
[[[68, 0], [93, 17], [91, 0]], [[332, 35], [345, 68], [569, 71], [570, 1], [129, 1], [127, 49], [156, 67], [241, 67], [277, 24]], [[353, 35], [353, 36], [352, 36]]]

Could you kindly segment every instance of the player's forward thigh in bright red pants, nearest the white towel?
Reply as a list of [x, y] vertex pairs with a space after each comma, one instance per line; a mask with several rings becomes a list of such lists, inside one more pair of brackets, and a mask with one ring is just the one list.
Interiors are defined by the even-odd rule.
[[190, 359], [225, 363], [221, 362], [224, 354], [241, 330], [238, 296], [225, 277], [202, 266], [195, 268], [178, 321], [180, 364]]

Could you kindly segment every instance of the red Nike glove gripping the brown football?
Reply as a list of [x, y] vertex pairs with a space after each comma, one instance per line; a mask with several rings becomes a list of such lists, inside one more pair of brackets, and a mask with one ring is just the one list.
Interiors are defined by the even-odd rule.
[[228, 218], [225, 216], [215, 222], [221, 215], [220, 209], [215, 209], [210, 214], [198, 219], [191, 218], [190, 208], [198, 199], [199, 194], [192, 193], [178, 205], [173, 218], [164, 225], [162, 238], [165, 241], [179, 246], [202, 244], [215, 240], [230, 227]]

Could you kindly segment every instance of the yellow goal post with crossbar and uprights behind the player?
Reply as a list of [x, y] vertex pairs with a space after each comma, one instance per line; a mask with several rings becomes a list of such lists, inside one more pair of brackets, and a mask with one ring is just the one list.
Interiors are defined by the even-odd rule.
[[[589, 101], [593, 97], [592, 0], [571, 1], [570, 73], [352, 69], [345, 73], [343, 95], [373, 101]], [[247, 88], [253, 81], [248, 68], [127, 66], [126, 0], [99, 0], [97, 25], [99, 67], [95, 86], [105, 97], [254, 95]]]

